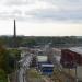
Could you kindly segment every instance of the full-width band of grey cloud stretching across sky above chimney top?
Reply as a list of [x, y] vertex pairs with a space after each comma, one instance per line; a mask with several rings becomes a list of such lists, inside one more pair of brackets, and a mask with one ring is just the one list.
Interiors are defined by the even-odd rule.
[[26, 11], [22, 13], [21, 11], [15, 10], [14, 12], [0, 12], [0, 17], [5, 19], [17, 19], [22, 21], [26, 20], [37, 20], [37, 21], [45, 21], [45, 20], [52, 20], [52, 21], [82, 21], [82, 12], [56, 12], [54, 10], [42, 10], [42, 11]]

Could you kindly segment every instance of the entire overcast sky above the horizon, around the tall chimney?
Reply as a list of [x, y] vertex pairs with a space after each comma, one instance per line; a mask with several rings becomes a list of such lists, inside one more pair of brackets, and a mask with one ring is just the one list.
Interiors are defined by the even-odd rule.
[[82, 36], [82, 0], [0, 0], [0, 35]]

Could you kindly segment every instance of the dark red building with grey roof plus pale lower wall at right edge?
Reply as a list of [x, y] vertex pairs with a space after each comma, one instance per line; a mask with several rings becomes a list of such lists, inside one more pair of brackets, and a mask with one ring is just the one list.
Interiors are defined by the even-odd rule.
[[61, 49], [60, 63], [63, 68], [73, 70], [78, 82], [82, 82], [82, 47]]

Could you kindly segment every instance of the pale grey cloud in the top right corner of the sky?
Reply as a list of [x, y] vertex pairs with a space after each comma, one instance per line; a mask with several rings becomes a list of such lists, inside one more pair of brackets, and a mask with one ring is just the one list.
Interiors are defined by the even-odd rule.
[[59, 8], [63, 7], [63, 9], [65, 8], [75, 9], [77, 7], [82, 7], [82, 0], [43, 0], [43, 1], [58, 5]]

